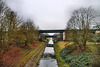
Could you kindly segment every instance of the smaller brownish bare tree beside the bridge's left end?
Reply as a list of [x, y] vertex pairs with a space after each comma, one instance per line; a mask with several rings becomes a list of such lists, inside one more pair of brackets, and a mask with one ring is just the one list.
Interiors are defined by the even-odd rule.
[[28, 44], [32, 43], [38, 36], [38, 31], [36, 30], [35, 24], [29, 19], [20, 26], [20, 29], [23, 30], [26, 37], [25, 46], [28, 46]]

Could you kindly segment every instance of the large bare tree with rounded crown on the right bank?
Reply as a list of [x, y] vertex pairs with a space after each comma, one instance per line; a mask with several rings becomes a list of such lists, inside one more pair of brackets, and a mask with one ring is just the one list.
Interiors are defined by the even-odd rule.
[[72, 37], [80, 49], [85, 49], [86, 42], [91, 36], [91, 24], [97, 17], [97, 12], [91, 8], [79, 8], [75, 10], [67, 23], [66, 39]]

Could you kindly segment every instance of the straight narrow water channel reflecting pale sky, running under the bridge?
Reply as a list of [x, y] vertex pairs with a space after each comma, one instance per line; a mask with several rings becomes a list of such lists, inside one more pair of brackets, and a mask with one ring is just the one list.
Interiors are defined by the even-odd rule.
[[[53, 44], [52, 38], [50, 38], [48, 44]], [[43, 56], [39, 62], [39, 67], [58, 67], [57, 60], [55, 58], [54, 47], [45, 48]]]

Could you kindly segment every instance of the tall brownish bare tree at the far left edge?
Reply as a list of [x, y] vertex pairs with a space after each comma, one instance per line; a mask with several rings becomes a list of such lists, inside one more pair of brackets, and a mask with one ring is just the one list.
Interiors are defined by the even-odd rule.
[[[15, 33], [17, 32], [19, 22], [17, 14], [2, 2], [2, 11], [0, 11], [0, 42], [4, 44], [16, 43]], [[0, 7], [1, 7], [0, 6]]]

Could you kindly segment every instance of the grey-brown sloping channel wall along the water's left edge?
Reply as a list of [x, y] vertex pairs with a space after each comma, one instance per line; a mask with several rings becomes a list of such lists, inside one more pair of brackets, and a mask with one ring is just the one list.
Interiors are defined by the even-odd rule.
[[45, 45], [42, 46], [31, 58], [30, 60], [26, 63], [24, 67], [37, 67], [39, 64], [39, 60], [41, 59], [41, 56], [44, 52]]

